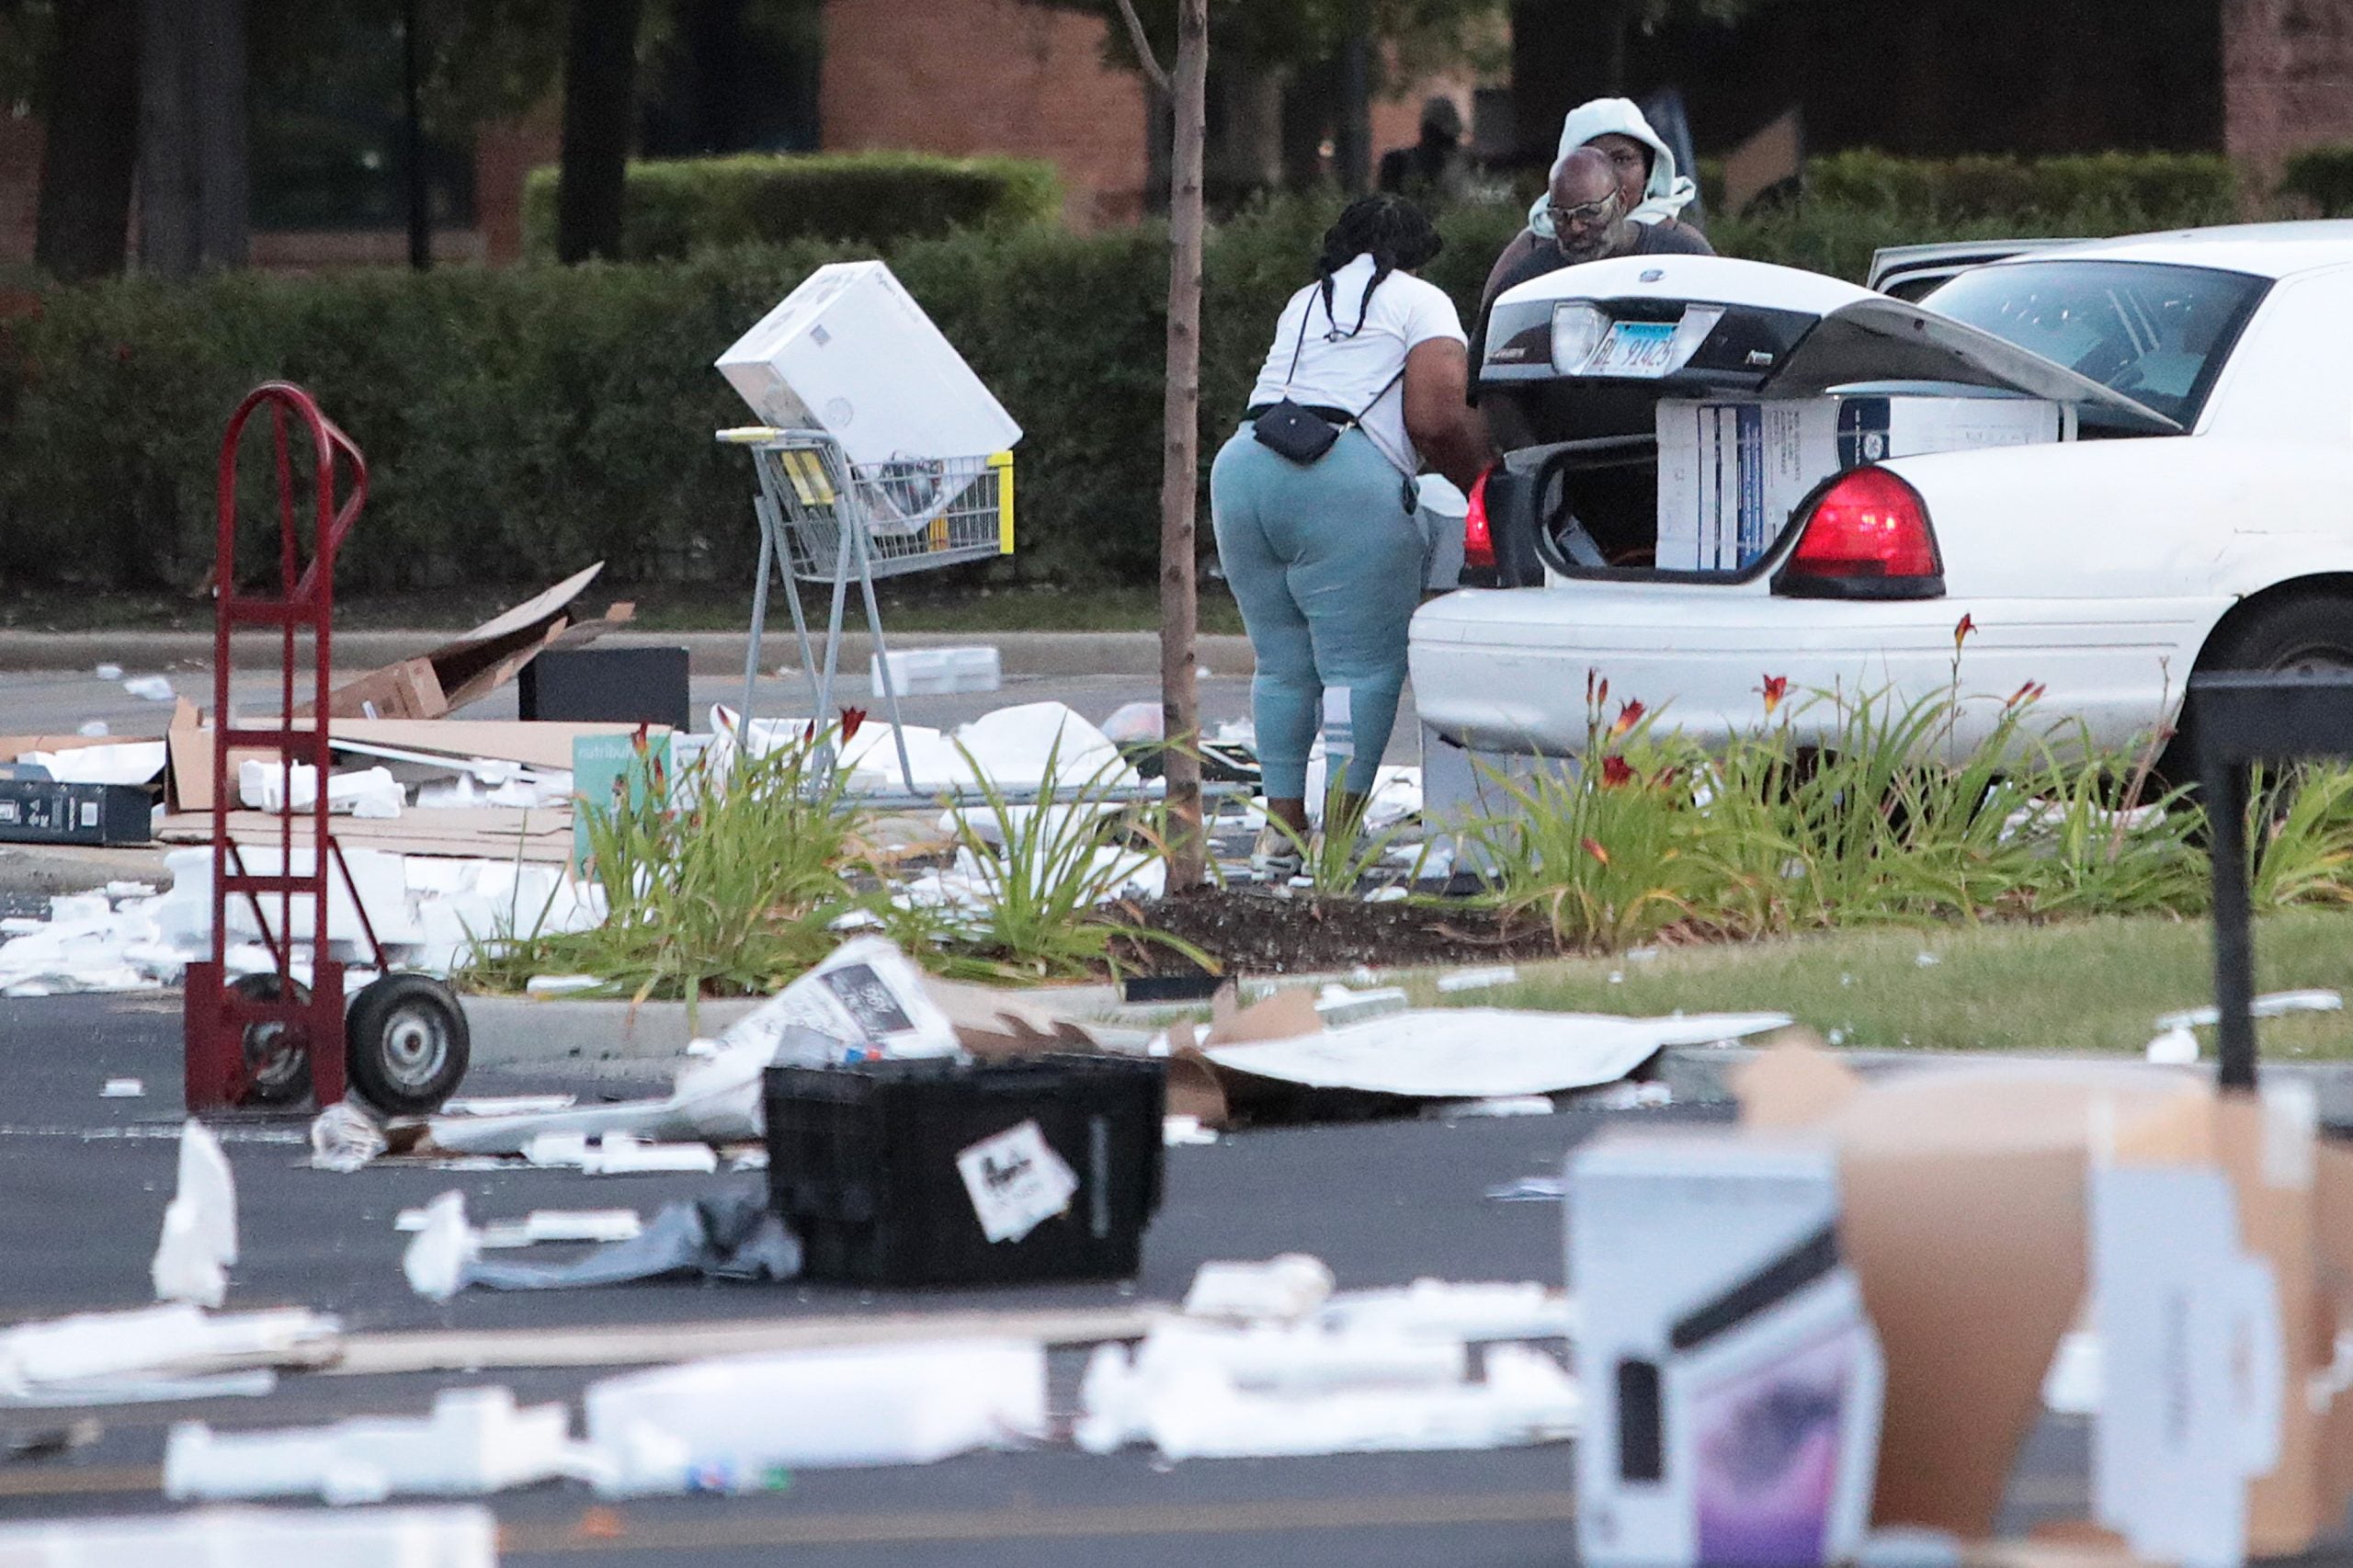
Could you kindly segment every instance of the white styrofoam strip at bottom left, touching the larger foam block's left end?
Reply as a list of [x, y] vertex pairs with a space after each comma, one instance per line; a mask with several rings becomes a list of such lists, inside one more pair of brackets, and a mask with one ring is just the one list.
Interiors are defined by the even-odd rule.
[[179, 1422], [162, 1450], [162, 1493], [188, 1497], [395, 1495], [482, 1497], [593, 1467], [565, 1406], [515, 1408], [513, 1389], [442, 1389], [433, 1413], [360, 1417], [289, 1431], [214, 1431]]

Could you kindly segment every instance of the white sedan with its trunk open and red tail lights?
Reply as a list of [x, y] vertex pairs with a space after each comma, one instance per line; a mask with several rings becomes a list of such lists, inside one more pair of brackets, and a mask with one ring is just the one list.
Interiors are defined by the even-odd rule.
[[[1927, 697], [1962, 617], [1965, 692], [2038, 683], [2106, 744], [2193, 669], [2353, 669], [2353, 224], [2035, 250], [1920, 304], [1593, 261], [1497, 301], [1480, 388], [1506, 464], [1471, 560], [1525, 586], [1414, 617], [1445, 749], [1574, 756], [1588, 671], [1701, 739], [1753, 730], [1767, 678]], [[1915, 445], [1993, 445], [1892, 454], [1915, 414]]]

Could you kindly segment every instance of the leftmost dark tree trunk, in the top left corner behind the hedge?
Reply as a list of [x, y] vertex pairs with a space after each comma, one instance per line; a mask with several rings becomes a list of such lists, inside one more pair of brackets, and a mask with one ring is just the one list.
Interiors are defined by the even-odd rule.
[[66, 283], [122, 271], [139, 167], [139, 0], [59, 7], [33, 261]]

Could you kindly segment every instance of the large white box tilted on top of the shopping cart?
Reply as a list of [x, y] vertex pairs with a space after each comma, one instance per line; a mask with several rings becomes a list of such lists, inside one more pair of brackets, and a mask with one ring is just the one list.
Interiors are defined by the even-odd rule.
[[769, 426], [826, 431], [854, 464], [988, 457], [1021, 426], [880, 261], [821, 266], [718, 358]]

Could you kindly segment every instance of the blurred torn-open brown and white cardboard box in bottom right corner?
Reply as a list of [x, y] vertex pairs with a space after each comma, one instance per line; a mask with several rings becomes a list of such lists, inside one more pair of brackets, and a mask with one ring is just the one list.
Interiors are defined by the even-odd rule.
[[[2304, 1552], [2344, 1519], [2353, 1151], [2318, 1140], [2308, 1092], [2017, 1062], [1864, 1085], [1807, 1048], [1737, 1088], [1744, 1128], [1718, 1142], [1800, 1130], [1835, 1151], [1838, 1245], [1885, 1354], [1873, 1528], [1993, 1533], [2087, 1290], [2104, 1398], [2085, 1535], [2207, 1566]], [[1572, 1203], [1581, 1224], [1609, 1220]]]

